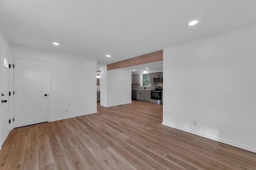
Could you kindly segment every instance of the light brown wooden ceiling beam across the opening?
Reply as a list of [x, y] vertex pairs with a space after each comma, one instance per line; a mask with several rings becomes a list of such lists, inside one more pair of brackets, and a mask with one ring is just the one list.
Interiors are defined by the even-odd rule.
[[155, 51], [153, 53], [140, 55], [138, 57], [126, 59], [123, 61], [118, 61], [116, 63], [108, 64], [107, 70], [114, 70], [117, 68], [124, 68], [128, 66], [135, 66], [139, 64], [146, 64], [146, 63], [162, 61], [162, 60], [163, 60], [163, 50], [160, 50], [160, 51]]

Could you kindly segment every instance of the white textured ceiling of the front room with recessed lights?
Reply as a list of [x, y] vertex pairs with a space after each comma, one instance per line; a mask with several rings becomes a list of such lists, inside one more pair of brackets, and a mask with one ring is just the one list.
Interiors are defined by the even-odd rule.
[[0, 0], [0, 28], [13, 45], [101, 66], [254, 25], [255, 9], [256, 0]]

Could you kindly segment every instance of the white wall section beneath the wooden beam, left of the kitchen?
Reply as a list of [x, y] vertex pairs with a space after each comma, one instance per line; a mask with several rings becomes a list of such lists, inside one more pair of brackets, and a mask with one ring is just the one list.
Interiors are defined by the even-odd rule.
[[131, 71], [127, 68], [107, 71], [107, 107], [132, 102], [131, 75]]

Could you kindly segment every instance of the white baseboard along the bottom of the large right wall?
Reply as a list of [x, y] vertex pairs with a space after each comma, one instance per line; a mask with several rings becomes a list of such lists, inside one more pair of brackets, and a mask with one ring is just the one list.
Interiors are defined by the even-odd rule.
[[238, 147], [238, 148], [249, 150], [251, 152], [255, 152], [256, 153], [256, 148], [253, 148], [253, 147], [250, 147], [250, 146], [247, 146], [247, 145], [243, 145], [241, 143], [236, 143], [236, 142], [229, 141], [227, 139], [223, 139], [223, 138], [220, 138], [220, 137], [216, 137], [216, 136], [200, 133], [200, 132], [197, 132], [197, 131], [193, 131], [191, 129], [186, 129], [186, 128], [179, 127], [179, 126], [176, 126], [176, 125], [172, 125], [172, 124], [166, 123], [166, 122], [162, 122], [162, 125], [165, 125], [165, 126], [168, 126], [168, 127], [172, 127], [174, 129], [178, 129], [178, 130], [181, 130], [181, 131], [192, 133], [194, 135], [205, 137], [207, 139], [212, 139], [212, 140], [217, 141], [217, 142], [225, 143], [227, 145], [231, 145], [231, 146], [234, 146], [234, 147]]

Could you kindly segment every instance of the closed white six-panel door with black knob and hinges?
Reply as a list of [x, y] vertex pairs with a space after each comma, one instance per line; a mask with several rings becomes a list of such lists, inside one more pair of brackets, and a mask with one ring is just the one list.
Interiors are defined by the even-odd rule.
[[48, 63], [14, 59], [14, 127], [48, 121]]

